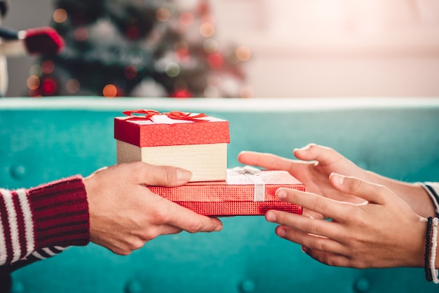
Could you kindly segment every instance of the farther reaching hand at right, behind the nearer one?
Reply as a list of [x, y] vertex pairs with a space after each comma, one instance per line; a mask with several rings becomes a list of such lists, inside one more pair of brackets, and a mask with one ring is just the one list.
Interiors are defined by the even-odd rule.
[[[299, 160], [282, 158], [273, 154], [261, 154], [253, 151], [243, 151], [238, 155], [238, 161], [245, 165], [256, 165], [269, 170], [287, 170], [300, 182], [305, 184], [306, 191], [317, 193], [326, 198], [351, 203], [361, 203], [363, 198], [352, 196], [334, 189], [330, 184], [331, 173], [353, 176], [374, 184], [387, 186], [391, 191], [403, 198], [422, 217], [434, 214], [434, 207], [427, 193], [416, 184], [400, 182], [363, 170], [334, 149], [318, 144], [309, 144], [302, 149], [295, 149]], [[304, 215], [321, 218], [320, 214], [304, 209]]]

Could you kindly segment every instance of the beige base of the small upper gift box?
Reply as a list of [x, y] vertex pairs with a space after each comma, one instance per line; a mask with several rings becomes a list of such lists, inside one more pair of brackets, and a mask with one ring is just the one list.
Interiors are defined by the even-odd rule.
[[116, 139], [117, 163], [142, 161], [190, 170], [191, 182], [227, 179], [227, 143], [137, 147]]

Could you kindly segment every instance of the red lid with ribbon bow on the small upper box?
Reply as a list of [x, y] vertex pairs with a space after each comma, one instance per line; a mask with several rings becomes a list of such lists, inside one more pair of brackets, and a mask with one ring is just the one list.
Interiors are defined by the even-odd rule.
[[[127, 112], [131, 113], [133, 111]], [[170, 121], [170, 124], [168, 124], [167, 121], [161, 123], [163, 119], [160, 116], [165, 118], [163, 116], [166, 116], [166, 114], [155, 113], [154, 116], [114, 118], [114, 138], [134, 144], [137, 147], [230, 142], [229, 121], [205, 116], [204, 114], [199, 118], [191, 118], [201, 114], [187, 114], [186, 117], [189, 117], [189, 120], [166, 118]]]

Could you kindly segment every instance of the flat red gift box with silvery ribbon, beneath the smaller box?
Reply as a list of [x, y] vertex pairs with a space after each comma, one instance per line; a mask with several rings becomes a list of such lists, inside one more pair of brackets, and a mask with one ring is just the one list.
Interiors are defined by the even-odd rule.
[[280, 187], [305, 190], [304, 184], [286, 171], [261, 171], [248, 166], [227, 170], [227, 180], [222, 182], [189, 182], [178, 187], [149, 186], [149, 189], [208, 216], [262, 215], [268, 210], [302, 214], [301, 206], [276, 197]]

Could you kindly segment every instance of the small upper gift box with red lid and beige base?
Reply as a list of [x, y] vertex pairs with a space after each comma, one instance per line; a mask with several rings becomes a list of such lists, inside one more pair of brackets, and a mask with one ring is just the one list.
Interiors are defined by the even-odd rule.
[[117, 163], [142, 161], [192, 172], [191, 182], [227, 179], [229, 121], [181, 111], [123, 112], [114, 118]]

